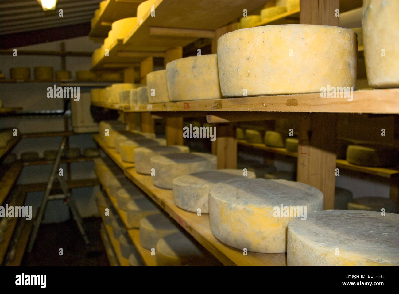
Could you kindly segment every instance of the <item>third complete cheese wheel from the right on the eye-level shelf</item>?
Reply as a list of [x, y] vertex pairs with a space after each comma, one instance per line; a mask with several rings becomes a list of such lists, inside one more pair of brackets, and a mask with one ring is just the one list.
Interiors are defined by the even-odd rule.
[[166, 69], [147, 74], [147, 95], [149, 103], [169, 102]]

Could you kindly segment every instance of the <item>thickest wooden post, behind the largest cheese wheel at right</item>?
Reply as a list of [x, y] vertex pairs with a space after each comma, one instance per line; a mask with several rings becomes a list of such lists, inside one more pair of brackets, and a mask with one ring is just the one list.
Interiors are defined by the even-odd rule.
[[[338, 25], [339, 6], [339, 0], [302, 0], [300, 24]], [[299, 128], [297, 180], [318, 188], [324, 194], [324, 209], [334, 209], [337, 115], [304, 115]]]

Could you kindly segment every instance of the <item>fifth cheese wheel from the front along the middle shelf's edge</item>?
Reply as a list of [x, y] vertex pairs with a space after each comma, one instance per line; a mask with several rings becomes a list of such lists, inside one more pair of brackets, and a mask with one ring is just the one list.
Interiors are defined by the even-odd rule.
[[149, 146], [134, 149], [134, 167], [140, 174], [151, 174], [150, 159], [155, 155], [188, 153], [187, 146]]

